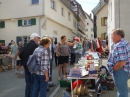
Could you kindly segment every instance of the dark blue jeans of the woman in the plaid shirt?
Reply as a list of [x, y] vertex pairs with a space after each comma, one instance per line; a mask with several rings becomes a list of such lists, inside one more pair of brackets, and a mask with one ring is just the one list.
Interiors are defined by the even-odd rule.
[[48, 83], [45, 81], [45, 75], [37, 75], [33, 73], [34, 78], [34, 87], [32, 91], [32, 97], [38, 97], [38, 94], [40, 92], [39, 97], [46, 97], [46, 90]]

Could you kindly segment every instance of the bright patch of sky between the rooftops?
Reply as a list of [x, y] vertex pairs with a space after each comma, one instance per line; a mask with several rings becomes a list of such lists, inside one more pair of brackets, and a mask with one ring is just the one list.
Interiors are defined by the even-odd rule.
[[91, 10], [99, 3], [100, 0], [76, 0], [79, 2], [85, 12], [91, 13]]

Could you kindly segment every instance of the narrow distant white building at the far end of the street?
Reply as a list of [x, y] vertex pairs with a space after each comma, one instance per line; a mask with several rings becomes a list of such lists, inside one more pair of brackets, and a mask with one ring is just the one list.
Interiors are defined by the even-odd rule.
[[90, 16], [86, 14], [86, 38], [87, 39], [94, 39], [94, 32], [93, 32], [93, 20], [91, 18], [91, 14]]

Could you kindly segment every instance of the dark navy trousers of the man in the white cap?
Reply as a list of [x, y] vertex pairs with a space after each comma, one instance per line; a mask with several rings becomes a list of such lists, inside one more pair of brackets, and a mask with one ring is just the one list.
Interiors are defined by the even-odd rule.
[[26, 82], [25, 97], [31, 97], [33, 89], [33, 76], [31, 72], [28, 71], [28, 69], [25, 69], [25, 82]]

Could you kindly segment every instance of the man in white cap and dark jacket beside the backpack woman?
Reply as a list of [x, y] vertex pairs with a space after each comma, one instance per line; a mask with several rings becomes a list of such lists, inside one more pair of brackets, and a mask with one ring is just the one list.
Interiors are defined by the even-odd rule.
[[32, 33], [30, 36], [30, 42], [26, 44], [22, 51], [22, 61], [24, 64], [24, 69], [25, 69], [25, 83], [26, 83], [26, 88], [25, 88], [25, 97], [31, 97], [32, 93], [32, 88], [33, 88], [33, 77], [31, 72], [29, 72], [27, 68], [27, 61], [30, 55], [33, 54], [34, 50], [38, 47], [38, 42], [40, 40], [40, 36], [37, 33]]

